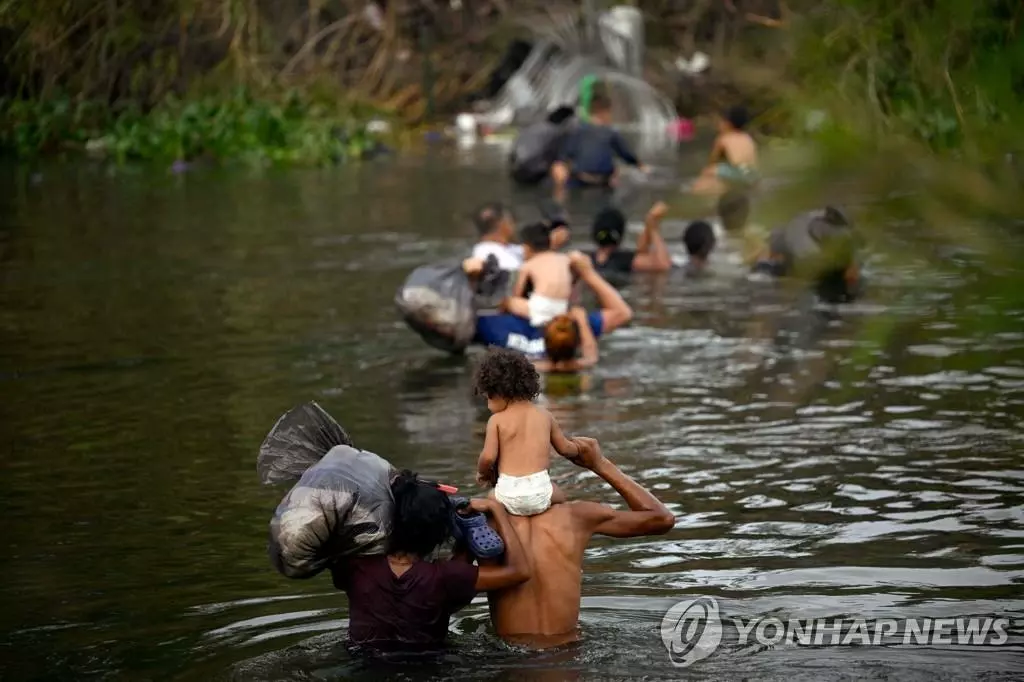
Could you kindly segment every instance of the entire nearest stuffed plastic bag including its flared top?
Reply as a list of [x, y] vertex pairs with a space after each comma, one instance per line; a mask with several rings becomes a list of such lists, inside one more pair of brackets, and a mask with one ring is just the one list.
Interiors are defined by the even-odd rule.
[[306, 467], [270, 519], [270, 562], [287, 578], [312, 578], [338, 558], [386, 549], [396, 472], [383, 458], [343, 441], [344, 429], [309, 403], [282, 417], [260, 449], [264, 482], [287, 480]]

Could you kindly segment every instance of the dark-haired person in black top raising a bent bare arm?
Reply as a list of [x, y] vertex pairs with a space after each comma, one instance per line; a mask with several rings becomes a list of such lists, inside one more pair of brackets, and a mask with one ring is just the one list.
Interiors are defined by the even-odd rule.
[[594, 218], [592, 236], [597, 250], [589, 253], [594, 267], [604, 275], [630, 272], [665, 272], [672, 268], [669, 249], [662, 238], [662, 219], [669, 207], [658, 202], [647, 212], [637, 248], [622, 248], [626, 216], [616, 208], [605, 208]]

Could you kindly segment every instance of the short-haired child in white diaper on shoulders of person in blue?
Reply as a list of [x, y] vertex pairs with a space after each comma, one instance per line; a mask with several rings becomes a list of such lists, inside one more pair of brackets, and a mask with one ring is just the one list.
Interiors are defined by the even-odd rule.
[[[513, 294], [505, 301], [505, 309], [529, 319], [531, 327], [544, 327], [568, 312], [572, 262], [567, 254], [551, 250], [551, 233], [543, 223], [523, 227], [519, 241], [525, 260], [519, 268]], [[527, 286], [530, 288], [528, 298]]]

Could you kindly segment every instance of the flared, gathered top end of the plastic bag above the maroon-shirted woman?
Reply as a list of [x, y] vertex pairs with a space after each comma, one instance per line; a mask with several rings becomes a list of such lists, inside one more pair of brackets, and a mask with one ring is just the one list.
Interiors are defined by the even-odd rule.
[[351, 445], [345, 429], [315, 402], [285, 413], [260, 445], [256, 471], [264, 485], [298, 480], [335, 445]]

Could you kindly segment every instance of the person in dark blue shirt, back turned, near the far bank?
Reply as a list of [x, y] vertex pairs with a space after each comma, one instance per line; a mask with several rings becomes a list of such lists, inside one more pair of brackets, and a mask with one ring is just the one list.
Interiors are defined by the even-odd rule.
[[559, 203], [564, 203], [565, 188], [569, 186], [614, 186], [616, 158], [642, 171], [647, 170], [623, 136], [611, 127], [610, 99], [601, 93], [595, 94], [590, 118], [590, 122], [580, 125], [568, 135], [558, 161], [551, 167], [554, 196]]

